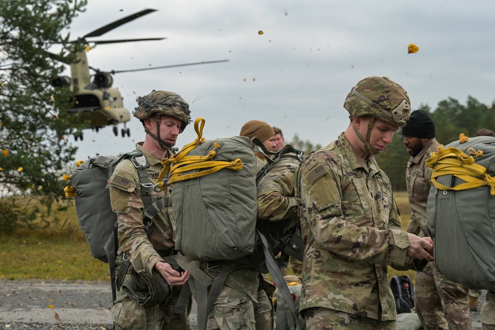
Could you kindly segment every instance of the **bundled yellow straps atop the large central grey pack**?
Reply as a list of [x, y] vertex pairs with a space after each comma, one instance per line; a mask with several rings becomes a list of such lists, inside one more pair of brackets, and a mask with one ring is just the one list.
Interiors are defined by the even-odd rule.
[[[163, 190], [166, 186], [184, 180], [191, 180], [199, 178], [211, 173], [220, 171], [221, 169], [229, 169], [233, 171], [239, 171], [243, 168], [243, 163], [241, 159], [236, 159], [232, 162], [226, 161], [215, 161], [212, 160], [215, 157], [217, 151], [210, 150], [206, 156], [188, 156], [187, 154], [196, 148], [199, 144], [204, 142], [203, 127], [205, 120], [203, 118], [198, 118], [194, 122], [194, 129], [198, 138], [193, 142], [186, 144], [178, 153], [170, 158], [162, 159], [161, 163], [164, 165], [160, 172], [160, 175], [156, 179], [156, 188]], [[218, 150], [221, 145], [217, 142], [214, 143], [215, 148]], [[165, 175], [170, 169], [170, 178], [166, 179]], [[183, 174], [184, 172], [192, 170], [201, 170], [198, 172]]]

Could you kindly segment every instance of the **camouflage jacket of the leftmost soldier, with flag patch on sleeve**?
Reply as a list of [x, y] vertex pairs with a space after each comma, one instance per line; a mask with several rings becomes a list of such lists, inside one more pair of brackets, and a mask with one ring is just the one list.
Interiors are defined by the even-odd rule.
[[[163, 165], [139, 143], [136, 147], [146, 156], [150, 165], [147, 169], [148, 177], [150, 182], [154, 183]], [[171, 155], [170, 153], [168, 156]], [[109, 180], [109, 186], [112, 210], [118, 214], [118, 259], [121, 259], [123, 251], [136, 272], [151, 274], [156, 262], [164, 261], [159, 251], [163, 253], [175, 247], [175, 221], [172, 207], [167, 206], [153, 217], [153, 228], [148, 238], [143, 224], [143, 201], [141, 200], [139, 176], [131, 160], [126, 159], [117, 165]], [[153, 197], [164, 195], [171, 198], [170, 188], [160, 192], [151, 191], [151, 202], [154, 201]], [[117, 260], [117, 265], [119, 263]]]

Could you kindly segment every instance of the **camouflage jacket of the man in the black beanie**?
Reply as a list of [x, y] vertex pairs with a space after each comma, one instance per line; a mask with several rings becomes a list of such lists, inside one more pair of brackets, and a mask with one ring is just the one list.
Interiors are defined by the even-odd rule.
[[407, 231], [420, 237], [430, 236], [426, 229], [426, 201], [432, 186], [433, 169], [425, 165], [431, 152], [437, 152], [440, 143], [433, 138], [415, 157], [410, 157], [405, 174], [411, 218]]

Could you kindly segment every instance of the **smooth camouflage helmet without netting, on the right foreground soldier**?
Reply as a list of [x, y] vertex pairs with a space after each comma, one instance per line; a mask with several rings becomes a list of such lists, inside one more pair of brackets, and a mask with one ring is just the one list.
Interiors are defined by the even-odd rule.
[[347, 94], [344, 107], [352, 117], [371, 115], [396, 126], [404, 126], [411, 114], [407, 92], [388, 77], [361, 80]]

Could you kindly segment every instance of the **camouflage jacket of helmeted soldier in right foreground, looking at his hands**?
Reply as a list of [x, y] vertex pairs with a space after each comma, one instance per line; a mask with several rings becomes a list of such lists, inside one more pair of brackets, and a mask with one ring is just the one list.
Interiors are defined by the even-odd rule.
[[407, 233], [375, 158], [356, 158], [342, 133], [303, 161], [297, 180], [305, 243], [300, 310], [322, 307], [395, 320], [387, 266], [418, 270], [418, 260], [406, 256]]

